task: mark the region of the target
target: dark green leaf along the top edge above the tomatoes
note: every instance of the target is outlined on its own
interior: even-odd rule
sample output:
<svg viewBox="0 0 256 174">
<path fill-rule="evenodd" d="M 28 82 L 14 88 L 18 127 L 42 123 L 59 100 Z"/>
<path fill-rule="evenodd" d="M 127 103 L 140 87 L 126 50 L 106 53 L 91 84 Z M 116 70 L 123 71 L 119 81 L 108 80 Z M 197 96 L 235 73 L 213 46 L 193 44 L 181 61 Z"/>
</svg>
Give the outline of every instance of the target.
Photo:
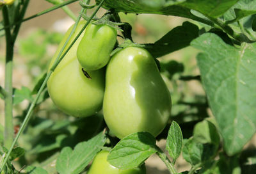
<svg viewBox="0 0 256 174">
<path fill-rule="evenodd" d="M 104 8 L 115 8 L 116 12 L 126 13 L 156 13 L 162 15 L 175 15 L 196 19 L 190 10 L 196 10 L 211 17 L 218 17 L 231 8 L 238 0 L 106 0 Z M 97 0 L 100 3 L 100 0 Z"/>
</svg>

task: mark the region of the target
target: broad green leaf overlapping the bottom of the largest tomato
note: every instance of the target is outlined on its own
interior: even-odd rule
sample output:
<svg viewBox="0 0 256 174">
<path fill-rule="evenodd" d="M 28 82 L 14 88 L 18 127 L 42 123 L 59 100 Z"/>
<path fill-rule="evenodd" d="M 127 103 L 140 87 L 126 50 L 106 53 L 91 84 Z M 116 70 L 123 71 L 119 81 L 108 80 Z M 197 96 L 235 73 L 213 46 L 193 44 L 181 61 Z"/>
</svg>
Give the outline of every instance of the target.
<svg viewBox="0 0 256 174">
<path fill-rule="evenodd" d="M 108 155 L 108 162 L 120 169 L 140 166 L 156 153 L 156 139 L 148 132 L 136 132 L 121 139 Z"/>
</svg>

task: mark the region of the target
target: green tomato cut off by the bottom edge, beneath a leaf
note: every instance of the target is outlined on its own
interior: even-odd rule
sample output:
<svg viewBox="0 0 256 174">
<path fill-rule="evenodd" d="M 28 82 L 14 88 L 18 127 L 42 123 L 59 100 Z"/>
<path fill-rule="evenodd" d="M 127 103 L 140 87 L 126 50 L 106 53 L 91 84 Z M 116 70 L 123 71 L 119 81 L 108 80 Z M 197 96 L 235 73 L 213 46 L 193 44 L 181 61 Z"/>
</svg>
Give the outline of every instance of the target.
<svg viewBox="0 0 256 174">
<path fill-rule="evenodd" d="M 146 174 L 145 164 L 140 166 L 140 168 L 133 168 L 129 170 L 122 170 L 115 168 L 109 162 L 108 151 L 102 150 L 99 154 L 96 155 L 92 162 L 92 166 L 87 174 Z"/>
</svg>

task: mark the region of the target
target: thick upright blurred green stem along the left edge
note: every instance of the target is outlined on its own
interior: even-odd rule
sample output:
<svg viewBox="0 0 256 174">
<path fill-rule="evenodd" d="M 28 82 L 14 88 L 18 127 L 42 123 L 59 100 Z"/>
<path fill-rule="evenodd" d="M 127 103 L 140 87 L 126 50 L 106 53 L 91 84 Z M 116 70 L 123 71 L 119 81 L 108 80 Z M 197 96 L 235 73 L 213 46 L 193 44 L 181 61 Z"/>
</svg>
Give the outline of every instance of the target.
<svg viewBox="0 0 256 174">
<path fill-rule="evenodd" d="M 3 18 L 4 26 L 10 24 L 8 9 L 6 6 L 3 7 Z M 4 146 L 10 148 L 13 141 L 13 115 L 12 115 L 12 67 L 13 67 L 13 40 L 10 28 L 5 29 L 5 40 L 6 40 L 6 59 L 5 59 L 5 79 L 4 89 L 6 91 L 4 98 Z"/>
</svg>

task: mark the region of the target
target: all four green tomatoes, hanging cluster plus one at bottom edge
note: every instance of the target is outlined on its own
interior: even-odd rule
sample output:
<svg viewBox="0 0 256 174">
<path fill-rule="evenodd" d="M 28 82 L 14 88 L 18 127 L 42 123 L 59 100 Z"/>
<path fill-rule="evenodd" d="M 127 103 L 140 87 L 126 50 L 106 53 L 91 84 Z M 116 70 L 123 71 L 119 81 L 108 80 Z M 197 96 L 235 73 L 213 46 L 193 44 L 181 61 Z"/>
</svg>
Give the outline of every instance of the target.
<svg viewBox="0 0 256 174">
<path fill-rule="evenodd" d="M 79 22 L 64 51 L 85 23 Z M 61 41 L 50 67 L 71 30 Z M 146 49 L 125 47 L 110 56 L 116 36 L 115 28 L 89 24 L 51 74 L 47 82 L 49 95 L 68 115 L 92 116 L 103 109 L 109 131 L 119 139 L 141 131 L 156 137 L 170 117 L 170 92 Z M 107 156 L 108 152 L 100 152 L 89 174 L 145 173 L 145 166 L 119 170 L 106 161 Z"/>
</svg>

